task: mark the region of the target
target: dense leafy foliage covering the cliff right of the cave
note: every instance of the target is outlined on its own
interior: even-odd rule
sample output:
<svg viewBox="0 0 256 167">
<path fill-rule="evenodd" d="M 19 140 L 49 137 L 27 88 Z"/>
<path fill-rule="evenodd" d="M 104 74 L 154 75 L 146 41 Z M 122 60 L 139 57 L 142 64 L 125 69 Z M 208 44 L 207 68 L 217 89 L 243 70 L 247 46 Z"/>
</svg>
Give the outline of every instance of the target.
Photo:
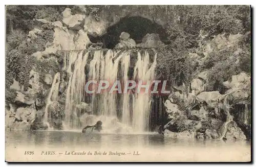
<svg viewBox="0 0 256 167">
<path fill-rule="evenodd" d="M 169 18 L 165 29 L 171 41 L 158 51 L 157 75 L 172 84 L 186 86 L 197 71 L 209 71 L 208 90 L 218 90 L 223 81 L 241 71 L 250 73 L 250 10 L 249 6 L 151 6 L 161 8 Z M 203 46 L 216 35 L 242 34 L 243 41 L 224 49 L 213 48 L 204 60 L 191 59 L 189 53 L 204 57 Z M 204 36 L 204 38 L 202 38 Z M 235 54 L 238 48 L 242 52 Z M 192 63 L 193 62 L 193 63 Z"/>
</svg>

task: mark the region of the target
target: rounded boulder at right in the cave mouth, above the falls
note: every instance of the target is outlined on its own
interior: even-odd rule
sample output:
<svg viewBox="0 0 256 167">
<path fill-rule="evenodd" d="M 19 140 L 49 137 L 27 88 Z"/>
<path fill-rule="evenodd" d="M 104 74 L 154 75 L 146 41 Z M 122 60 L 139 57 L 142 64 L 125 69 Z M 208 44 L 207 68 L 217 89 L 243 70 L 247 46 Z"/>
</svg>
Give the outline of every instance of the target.
<svg viewBox="0 0 256 167">
<path fill-rule="evenodd" d="M 142 42 L 137 44 L 138 47 L 160 47 L 164 45 L 161 41 L 159 34 L 146 34 Z"/>
</svg>

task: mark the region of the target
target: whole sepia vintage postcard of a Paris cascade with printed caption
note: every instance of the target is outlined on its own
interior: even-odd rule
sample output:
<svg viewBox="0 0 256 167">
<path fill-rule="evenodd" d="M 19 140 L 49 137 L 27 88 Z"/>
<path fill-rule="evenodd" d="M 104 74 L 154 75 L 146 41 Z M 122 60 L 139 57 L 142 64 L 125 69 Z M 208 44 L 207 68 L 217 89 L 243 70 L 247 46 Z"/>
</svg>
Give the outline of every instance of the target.
<svg viewBox="0 0 256 167">
<path fill-rule="evenodd" d="M 6 161 L 250 162 L 250 11 L 6 5 Z"/>
</svg>

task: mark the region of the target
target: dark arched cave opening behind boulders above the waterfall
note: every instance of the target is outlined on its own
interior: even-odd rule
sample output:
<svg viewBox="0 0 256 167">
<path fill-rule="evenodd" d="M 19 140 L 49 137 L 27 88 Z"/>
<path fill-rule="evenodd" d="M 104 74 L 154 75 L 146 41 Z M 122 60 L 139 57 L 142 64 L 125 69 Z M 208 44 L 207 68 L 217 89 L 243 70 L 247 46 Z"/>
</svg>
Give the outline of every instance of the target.
<svg viewBox="0 0 256 167">
<path fill-rule="evenodd" d="M 123 17 L 115 25 L 109 27 L 104 35 L 100 37 L 88 35 L 88 37 L 93 43 L 102 42 L 103 48 L 113 49 L 119 43 L 119 36 L 122 32 L 129 33 L 130 38 L 134 39 L 137 44 L 142 42 L 146 34 L 151 33 L 159 34 L 163 43 L 169 43 L 166 30 L 161 25 L 140 16 Z"/>
</svg>

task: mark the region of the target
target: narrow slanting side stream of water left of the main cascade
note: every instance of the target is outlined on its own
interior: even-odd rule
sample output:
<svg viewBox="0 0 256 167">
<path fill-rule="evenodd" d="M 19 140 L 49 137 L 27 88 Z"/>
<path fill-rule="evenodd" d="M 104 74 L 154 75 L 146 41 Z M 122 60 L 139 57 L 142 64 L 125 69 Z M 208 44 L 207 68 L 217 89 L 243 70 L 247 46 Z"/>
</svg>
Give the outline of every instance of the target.
<svg viewBox="0 0 256 167">
<path fill-rule="evenodd" d="M 57 102 L 58 101 L 59 84 L 60 84 L 60 73 L 56 73 L 54 78 L 53 78 L 52 87 L 50 89 L 50 92 L 48 94 L 47 101 L 46 101 L 44 123 L 48 124 L 48 115 L 49 115 L 48 114 L 48 106 L 52 102 Z"/>
</svg>

